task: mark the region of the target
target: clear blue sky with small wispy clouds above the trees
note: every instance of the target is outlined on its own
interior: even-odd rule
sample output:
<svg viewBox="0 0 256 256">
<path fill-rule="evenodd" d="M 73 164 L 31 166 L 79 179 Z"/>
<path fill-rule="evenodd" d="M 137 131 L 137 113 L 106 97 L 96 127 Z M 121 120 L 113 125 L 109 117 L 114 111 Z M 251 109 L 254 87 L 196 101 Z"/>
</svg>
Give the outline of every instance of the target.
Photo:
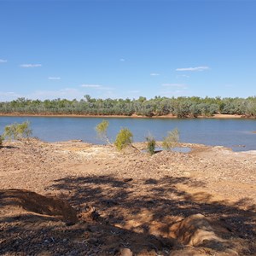
<svg viewBox="0 0 256 256">
<path fill-rule="evenodd" d="M 256 1 L 0 0 L 0 101 L 256 95 Z"/>
</svg>

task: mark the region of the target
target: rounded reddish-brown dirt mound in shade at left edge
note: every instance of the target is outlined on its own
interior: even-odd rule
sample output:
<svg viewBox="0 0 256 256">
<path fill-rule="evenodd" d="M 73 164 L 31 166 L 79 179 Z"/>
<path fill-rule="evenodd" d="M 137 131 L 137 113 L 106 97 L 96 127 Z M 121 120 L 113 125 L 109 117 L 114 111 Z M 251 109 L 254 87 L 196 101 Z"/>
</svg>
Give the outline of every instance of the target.
<svg viewBox="0 0 256 256">
<path fill-rule="evenodd" d="M 38 195 L 24 189 L 0 190 L 0 205 L 1 207 L 22 207 L 28 212 L 55 216 L 68 224 L 78 222 L 76 211 L 67 201 Z"/>
</svg>

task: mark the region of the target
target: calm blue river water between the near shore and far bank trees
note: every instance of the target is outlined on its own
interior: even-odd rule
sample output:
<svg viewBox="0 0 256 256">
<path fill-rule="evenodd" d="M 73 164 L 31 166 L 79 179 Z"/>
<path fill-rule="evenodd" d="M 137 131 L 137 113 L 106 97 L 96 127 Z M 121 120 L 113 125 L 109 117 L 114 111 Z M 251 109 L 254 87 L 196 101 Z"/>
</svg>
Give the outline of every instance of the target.
<svg viewBox="0 0 256 256">
<path fill-rule="evenodd" d="M 0 133 L 5 125 L 26 120 L 31 122 L 33 137 L 47 142 L 83 140 L 103 143 L 96 137 L 95 127 L 108 119 L 108 137 L 114 140 L 122 127 L 133 133 L 135 142 L 145 141 L 150 133 L 162 140 L 167 131 L 177 128 L 183 143 L 220 145 L 234 151 L 256 150 L 256 119 L 132 119 L 132 118 L 73 118 L 73 117 L 0 117 Z"/>
</svg>

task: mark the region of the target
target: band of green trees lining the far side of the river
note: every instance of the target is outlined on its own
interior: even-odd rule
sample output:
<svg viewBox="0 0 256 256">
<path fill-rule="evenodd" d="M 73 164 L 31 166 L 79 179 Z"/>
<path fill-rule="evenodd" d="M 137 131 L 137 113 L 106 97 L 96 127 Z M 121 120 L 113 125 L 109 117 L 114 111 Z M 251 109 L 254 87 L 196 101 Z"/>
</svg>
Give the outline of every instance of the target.
<svg viewBox="0 0 256 256">
<path fill-rule="evenodd" d="M 215 113 L 239 114 L 256 117 L 256 96 L 247 98 L 221 97 L 161 97 L 147 99 L 95 99 L 85 95 L 81 100 L 29 100 L 18 98 L 11 102 L 0 102 L 0 113 L 26 114 L 87 114 L 163 116 L 172 114 L 178 118 L 212 116 Z"/>
</svg>

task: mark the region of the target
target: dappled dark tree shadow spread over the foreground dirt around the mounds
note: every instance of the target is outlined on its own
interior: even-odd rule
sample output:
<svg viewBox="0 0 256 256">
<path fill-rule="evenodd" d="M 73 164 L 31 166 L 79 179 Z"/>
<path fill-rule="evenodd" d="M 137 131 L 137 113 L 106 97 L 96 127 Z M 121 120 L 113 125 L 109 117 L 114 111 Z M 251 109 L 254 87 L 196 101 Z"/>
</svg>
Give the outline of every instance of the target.
<svg viewBox="0 0 256 256">
<path fill-rule="evenodd" d="M 28 213 L 1 218 L 0 252 L 115 255 L 127 247 L 136 255 L 169 255 L 174 248 L 184 246 L 173 227 L 183 218 L 201 213 L 212 227 L 218 227 L 216 234 L 225 246 L 208 242 L 197 247 L 197 253 L 229 255 L 227 248 L 239 255 L 256 253 L 255 206 L 244 207 L 246 198 L 236 204 L 212 201 L 207 193 L 193 195 L 178 189 L 180 184 L 204 186 L 189 177 L 135 180 L 91 176 L 55 180 L 48 189 L 58 191 L 58 196 L 77 210 L 79 223 L 68 226 L 59 218 Z M 4 206 L 3 196 L 1 204 Z"/>
</svg>

